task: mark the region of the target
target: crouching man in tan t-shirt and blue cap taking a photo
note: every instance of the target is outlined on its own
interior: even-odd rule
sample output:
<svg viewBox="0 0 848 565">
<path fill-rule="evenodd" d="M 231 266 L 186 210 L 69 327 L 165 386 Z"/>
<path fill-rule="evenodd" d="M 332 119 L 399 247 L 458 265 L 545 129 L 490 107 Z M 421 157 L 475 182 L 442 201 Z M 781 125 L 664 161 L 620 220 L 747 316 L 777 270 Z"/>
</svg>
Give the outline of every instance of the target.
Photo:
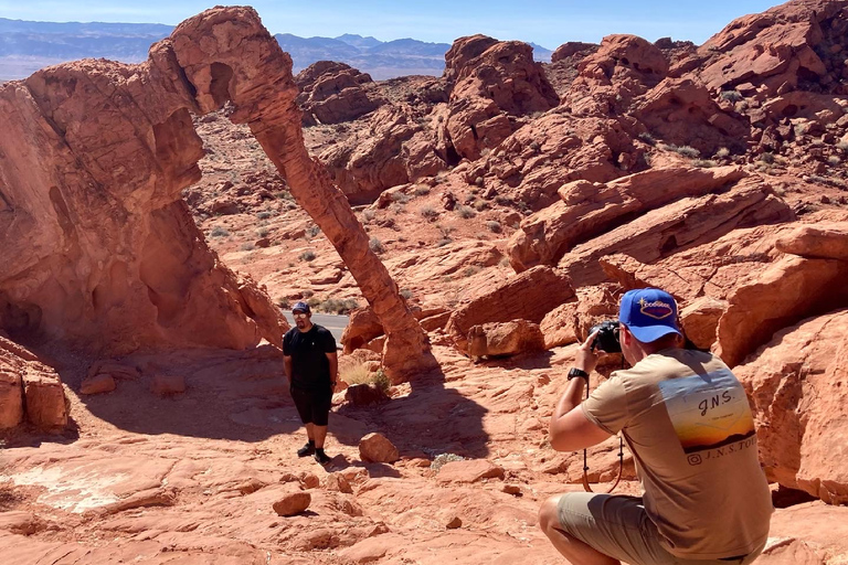
<svg viewBox="0 0 848 565">
<path fill-rule="evenodd" d="M 680 348 L 677 305 L 656 288 L 622 297 L 618 339 L 632 369 L 581 403 L 597 364 L 594 338 L 569 372 L 551 446 L 574 451 L 621 431 L 645 492 L 549 499 L 539 522 L 553 546 L 574 565 L 754 561 L 773 509 L 742 385 L 719 358 Z"/>
</svg>

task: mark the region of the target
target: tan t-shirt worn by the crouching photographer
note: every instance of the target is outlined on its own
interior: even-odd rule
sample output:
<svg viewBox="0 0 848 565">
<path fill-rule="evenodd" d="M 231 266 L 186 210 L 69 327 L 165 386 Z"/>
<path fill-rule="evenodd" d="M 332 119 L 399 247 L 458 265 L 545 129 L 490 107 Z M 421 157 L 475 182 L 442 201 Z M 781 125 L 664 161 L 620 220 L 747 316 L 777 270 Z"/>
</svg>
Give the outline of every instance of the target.
<svg viewBox="0 0 848 565">
<path fill-rule="evenodd" d="M 672 554 L 744 555 L 768 535 L 773 511 L 742 385 L 717 356 L 667 349 L 616 371 L 581 404 L 624 435 L 648 516 Z"/>
</svg>

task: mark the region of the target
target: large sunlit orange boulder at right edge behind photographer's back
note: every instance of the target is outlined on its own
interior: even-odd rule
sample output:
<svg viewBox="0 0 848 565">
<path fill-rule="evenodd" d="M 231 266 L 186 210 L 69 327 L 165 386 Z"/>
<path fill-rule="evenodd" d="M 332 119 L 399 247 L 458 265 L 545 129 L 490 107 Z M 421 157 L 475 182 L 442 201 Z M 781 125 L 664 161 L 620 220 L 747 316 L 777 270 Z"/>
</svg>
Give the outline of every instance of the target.
<svg viewBox="0 0 848 565">
<path fill-rule="evenodd" d="M 768 478 L 829 504 L 848 503 L 847 335 L 846 309 L 808 318 L 734 369 L 753 403 Z"/>
</svg>

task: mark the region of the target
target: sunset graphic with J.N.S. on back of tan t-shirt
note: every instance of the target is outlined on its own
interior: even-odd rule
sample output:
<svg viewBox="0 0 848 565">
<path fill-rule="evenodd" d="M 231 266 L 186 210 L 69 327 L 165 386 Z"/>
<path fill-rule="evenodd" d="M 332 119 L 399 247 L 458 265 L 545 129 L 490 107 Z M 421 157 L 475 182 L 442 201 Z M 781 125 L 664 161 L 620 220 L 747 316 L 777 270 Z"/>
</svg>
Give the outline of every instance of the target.
<svg viewBox="0 0 848 565">
<path fill-rule="evenodd" d="M 659 390 L 683 452 L 717 450 L 690 456 L 690 465 L 724 455 L 724 446 L 733 451 L 732 444 L 754 435 L 745 391 L 730 371 L 662 381 Z"/>
</svg>

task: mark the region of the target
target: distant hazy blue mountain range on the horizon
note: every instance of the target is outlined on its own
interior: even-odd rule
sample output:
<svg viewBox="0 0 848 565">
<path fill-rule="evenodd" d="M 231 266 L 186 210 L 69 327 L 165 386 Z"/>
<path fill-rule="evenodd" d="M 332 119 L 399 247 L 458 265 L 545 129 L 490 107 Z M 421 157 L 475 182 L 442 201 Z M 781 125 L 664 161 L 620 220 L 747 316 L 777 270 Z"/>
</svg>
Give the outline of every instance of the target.
<svg viewBox="0 0 848 565">
<path fill-rule="evenodd" d="M 173 26 L 158 23 L 52 23 L 0 18 L 0 81 L 24 78 L 39 68 L 77 58 L 105 57 L 125 63 L 147 58 L 150 45 Z M 346 33 L 338 38 L 274 35 L 292 55 L 294 72 L 316 61 L 347 63 L 377 81 L 403 75 L 441 76 L 448 43 L 413 39 L 380 41 Z M 551 51 L 531 43 L 537 61 Z"/>
</svg>

